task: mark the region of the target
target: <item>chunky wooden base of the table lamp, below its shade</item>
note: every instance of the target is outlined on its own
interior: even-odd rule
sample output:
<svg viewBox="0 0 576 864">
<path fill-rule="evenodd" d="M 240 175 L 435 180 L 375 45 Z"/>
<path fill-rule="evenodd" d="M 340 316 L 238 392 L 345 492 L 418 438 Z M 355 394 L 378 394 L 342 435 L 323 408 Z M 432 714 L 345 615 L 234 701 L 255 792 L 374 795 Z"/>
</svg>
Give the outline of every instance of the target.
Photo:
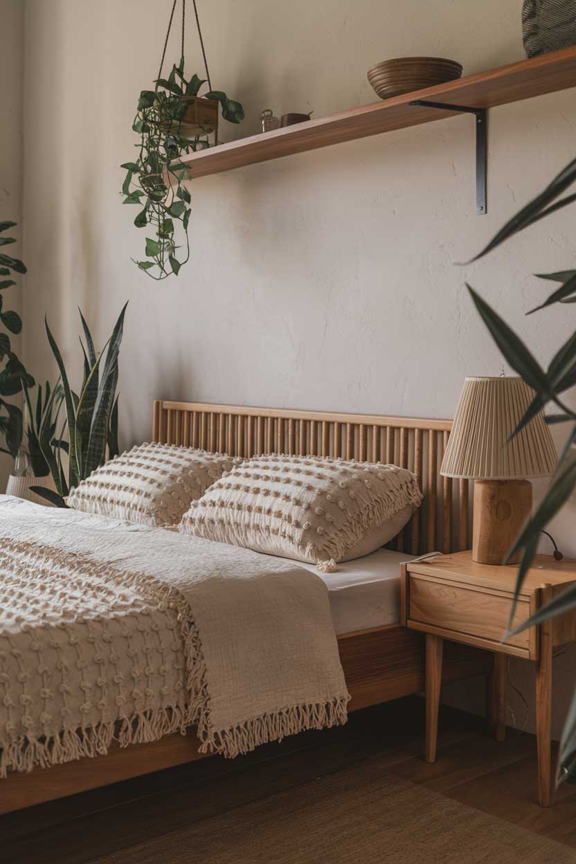
<svg viewBox="0 0 576 864">
<path fill-rule="evenodd" d="M 502 564 L 532 512 L 529 480 L 475 480 L 472 561 Z M 520 561 L 521 552 L 510 559 Z"/>
</svg>

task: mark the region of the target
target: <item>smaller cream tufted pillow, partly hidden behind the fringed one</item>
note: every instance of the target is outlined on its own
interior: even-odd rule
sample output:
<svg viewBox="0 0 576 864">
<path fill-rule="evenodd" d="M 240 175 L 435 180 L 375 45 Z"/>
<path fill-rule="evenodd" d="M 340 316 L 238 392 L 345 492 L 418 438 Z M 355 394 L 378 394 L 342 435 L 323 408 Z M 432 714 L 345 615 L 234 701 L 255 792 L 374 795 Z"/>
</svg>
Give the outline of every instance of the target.
<svg viewBox="0 0 576 864">
<path fill-rule="evenodd" d="M 214 480 L 241 460 L 169 444 L 140 444 L 70 490 L 73 510 L 155 527 L 177 525 Z"/>
</svg>

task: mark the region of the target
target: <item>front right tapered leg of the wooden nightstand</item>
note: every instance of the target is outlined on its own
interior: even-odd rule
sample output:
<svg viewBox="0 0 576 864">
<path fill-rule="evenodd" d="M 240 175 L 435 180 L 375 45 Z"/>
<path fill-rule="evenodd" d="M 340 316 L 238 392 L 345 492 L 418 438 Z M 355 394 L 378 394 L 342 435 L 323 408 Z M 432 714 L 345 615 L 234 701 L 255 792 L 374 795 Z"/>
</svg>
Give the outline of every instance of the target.
<svg viewBox="0 0 576 864">
<path fill-rule="evenodd" d="M 551 597 L 541 589 L 542 605 Z M 549 807 L 552 798 L 552 622 L 540 626 L 540 648 L 536 665 L 536 737 L 538 739 L 538 802 Z"/>
</svg>

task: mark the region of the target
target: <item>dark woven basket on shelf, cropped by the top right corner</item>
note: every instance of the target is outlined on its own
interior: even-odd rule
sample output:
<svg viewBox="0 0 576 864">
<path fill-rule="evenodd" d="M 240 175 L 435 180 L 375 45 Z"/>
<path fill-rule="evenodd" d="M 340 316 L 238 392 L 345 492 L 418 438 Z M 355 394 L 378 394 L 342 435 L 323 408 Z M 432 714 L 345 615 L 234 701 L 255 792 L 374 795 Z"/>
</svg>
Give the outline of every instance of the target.
<svg viewBox="0 0 576 864">
<path fill-rule="evenodd" d="M 576 45 L 574 0 L 524 0 L 522 35 L 527 57 Z"/>
</svg>

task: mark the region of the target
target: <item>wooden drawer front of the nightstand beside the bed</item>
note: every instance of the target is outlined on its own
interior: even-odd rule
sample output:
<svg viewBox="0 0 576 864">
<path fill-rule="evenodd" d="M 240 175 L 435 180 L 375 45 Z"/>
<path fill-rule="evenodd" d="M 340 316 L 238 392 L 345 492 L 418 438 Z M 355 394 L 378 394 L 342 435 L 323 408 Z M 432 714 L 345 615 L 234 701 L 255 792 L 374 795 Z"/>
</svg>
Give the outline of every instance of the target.
<svg viewBox="0 0 576 864">
<path fill-rule="evenodd" d="M 478 591 L 421 575 L 410 574 L 408 578 L 408 626 L 420 629 L 419 624 L 426 625 L 422 629 L 428 632 L 432 626 L 443 631 L 446 638 L 458 639 L 461 634 L 465 641 L 470 642 L 472 637 L 496 651 L 508 648 L 510 653 L 528 655 L 532 653 L 529 630 L 500 644 L 508 629 L 511 606 L 507 593 Z M 518 600 L 514 624 L 519 626 L 529 614 L 529 603 Z"/>
</svg>

